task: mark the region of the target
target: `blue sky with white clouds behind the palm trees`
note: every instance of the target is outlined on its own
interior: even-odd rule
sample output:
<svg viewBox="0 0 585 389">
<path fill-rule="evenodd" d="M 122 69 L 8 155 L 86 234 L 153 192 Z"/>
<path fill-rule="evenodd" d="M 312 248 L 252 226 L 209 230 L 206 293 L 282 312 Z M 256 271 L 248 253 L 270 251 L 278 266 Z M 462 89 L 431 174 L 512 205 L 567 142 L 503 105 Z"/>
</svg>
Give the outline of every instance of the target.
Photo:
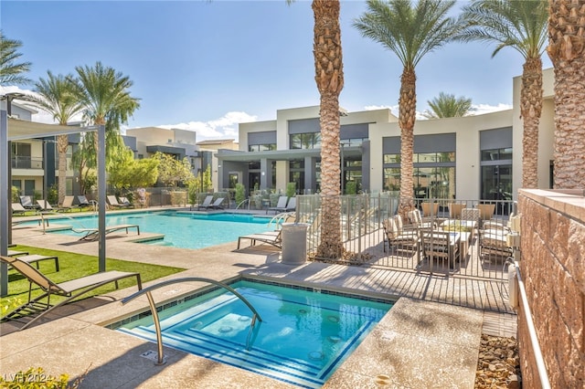
<svg viewBox="0 0 585 389">
<path fill-rule="evenodd" d="M 453 10 L 464 5 L 458 2 Z M 402 65 L 353 27 L 363 1 L 341 2 L 344 89 L 349 112 L 390 108 L 398 116 Z M 133 81 L 140 109 L 122 126 L 197 131 L 197 142 L 238 140 L 238 123 L 276 119 L 276 110 L 319 105 L 310 1 L 0 0 L 0 29 L 22 42 L 29 79 L 75 74 L 101 61 Z M 449 43 L 416 68 L 417 110 L 439 93 L 472 99 L 476 113 L 512 106 L 524 59 L 506 47 Z M 544 68 L 550 68 L 547 55 Z M 1 87 L 0 93 L 32 89 Z M 51 122 L 42 111 L 34 121 Z"/>
</svg>

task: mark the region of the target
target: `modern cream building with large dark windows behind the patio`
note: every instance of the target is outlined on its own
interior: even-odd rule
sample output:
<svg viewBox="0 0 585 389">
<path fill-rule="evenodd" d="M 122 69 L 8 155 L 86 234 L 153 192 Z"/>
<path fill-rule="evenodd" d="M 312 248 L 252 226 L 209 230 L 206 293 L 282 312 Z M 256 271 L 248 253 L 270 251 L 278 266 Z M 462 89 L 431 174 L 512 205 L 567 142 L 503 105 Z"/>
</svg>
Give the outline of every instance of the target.
<svg viewBox="0 0 585 389">
<path fill-rule="evenodd" d="M 553 69 L 544 71 L 538 186 L 552 187 Z M 513 79 L 513 109 L 461 118 L 419 120 L 414 127 L 414 184 L 420 198 L 516 199 L 522 184 L 521 78 Z M 400 129 L 389 110 L 340 112 L 342 187 L 399 190 Z M 319 191 L 319 107 L 277 110 L 276 120 L 239 124 L 239 151 L 218 150 L 220 187 L 297 193 Z"/>
</svg>

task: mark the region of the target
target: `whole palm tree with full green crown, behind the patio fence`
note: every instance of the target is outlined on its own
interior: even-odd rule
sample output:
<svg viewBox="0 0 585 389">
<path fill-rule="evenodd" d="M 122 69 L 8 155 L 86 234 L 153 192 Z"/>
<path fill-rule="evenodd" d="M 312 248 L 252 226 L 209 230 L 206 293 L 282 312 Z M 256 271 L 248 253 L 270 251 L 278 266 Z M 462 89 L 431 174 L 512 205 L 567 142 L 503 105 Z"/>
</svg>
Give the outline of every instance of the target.
<svg viewBox="0 0 585 389">
<path fill-rule="evenodd" d="M 382 44 L 402 63 L 399 92 L 400 127 L 400 202 L 399 213 L 406 216 L 412 208 L 414 122 L 416 120 L 415 68 L 425 54 L 443 46 L 460 31 L 460 20 L 447 16 L 454 0 L 368 0 L 368 11 L 354 26 L 362 36 Z"/>
</svg>

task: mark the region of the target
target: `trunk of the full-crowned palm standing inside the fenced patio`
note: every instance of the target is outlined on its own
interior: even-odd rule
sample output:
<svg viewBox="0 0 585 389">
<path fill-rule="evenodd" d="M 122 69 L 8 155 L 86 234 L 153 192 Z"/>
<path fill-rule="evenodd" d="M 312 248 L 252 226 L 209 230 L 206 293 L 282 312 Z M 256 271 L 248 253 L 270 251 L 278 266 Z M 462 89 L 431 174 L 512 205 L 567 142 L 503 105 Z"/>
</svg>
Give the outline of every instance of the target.
<svg viewBox="0 0 585 389">
<path fill-rule="evenodd" d="M 416 120 L 417 92 L 414 69 L 404 68 L 400 77 L 399 126 L 400 126 L 400 202 L 399 214 L 404 220 L 412 209 L 412 152 L 414 147 L 414 121 Z"/>
</svg>

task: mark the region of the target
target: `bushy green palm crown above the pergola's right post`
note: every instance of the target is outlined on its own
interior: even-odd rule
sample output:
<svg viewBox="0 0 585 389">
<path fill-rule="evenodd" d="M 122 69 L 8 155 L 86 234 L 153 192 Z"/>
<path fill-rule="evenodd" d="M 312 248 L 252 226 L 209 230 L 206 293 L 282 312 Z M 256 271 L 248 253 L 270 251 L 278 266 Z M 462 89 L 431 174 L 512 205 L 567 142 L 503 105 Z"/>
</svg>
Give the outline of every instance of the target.
<svg viewBox="0 0 585 389">
<path fill-rule="evenodd" d="M 106 142 L 115 146 L 120 142 L 120 126 L 126 123 L 134 110 L 140 108 L 139 99 L 130 95 L 133 81 L 113 68 L 104 67 L 96 62 L 94 67 L 76 67 L 77 78 L 69 77 L 73 93 L 83 106 L 83 118 L 91 124 L 105 125 Z M 98 133 L 85 138 L 93 143 L 96 156 L 98 152 Z M 106 155 L 109 148 L 106 147 Z M 95 156 L 94 156 L 95 157 Z M 89 162 L 95 165 L 95 159 Z"/>
</svg>

